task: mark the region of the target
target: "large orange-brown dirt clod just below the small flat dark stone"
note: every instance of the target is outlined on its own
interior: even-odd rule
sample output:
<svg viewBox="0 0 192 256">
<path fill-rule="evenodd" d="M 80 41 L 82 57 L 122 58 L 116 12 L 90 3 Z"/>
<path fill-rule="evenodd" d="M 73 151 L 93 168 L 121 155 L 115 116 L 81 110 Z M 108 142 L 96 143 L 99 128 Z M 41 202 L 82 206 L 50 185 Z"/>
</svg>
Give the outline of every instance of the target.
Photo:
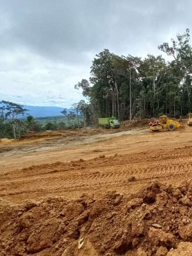
<svg viewBox="0 0 192 256">
<path fill-rule="evenodd" d="M 148 237 L 151 243 L 156 246 L 175 247 L 176 244 L 174 236 L 162 231 L 162 229 L 150 227 Z"/>
</svg>

